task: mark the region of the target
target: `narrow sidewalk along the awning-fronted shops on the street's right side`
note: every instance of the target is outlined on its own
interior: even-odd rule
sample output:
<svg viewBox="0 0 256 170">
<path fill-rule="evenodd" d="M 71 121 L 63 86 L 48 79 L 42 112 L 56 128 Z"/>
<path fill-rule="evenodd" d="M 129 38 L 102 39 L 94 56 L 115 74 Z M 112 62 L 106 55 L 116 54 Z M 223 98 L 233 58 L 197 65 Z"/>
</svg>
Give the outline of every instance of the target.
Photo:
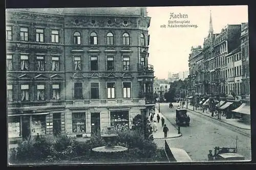
<svg viewBox="0 0 256 170">
<path fill-rule="evenodd" d="M 184 105 L 184 107 L 186 108 L 186 104 Z M 187 109 L 193 111 L 193 106 L 187 105 Z M 196 108 L 195 108 L 194 111 L 195 111 L 195 112 L 198 112 L 198 113 L 201 113 L 201 114 L 203 114 L 203 115 L 206 115 L 206 116 L 208 116 L 208 117 L 211 117 L 211 113 L 210 113 L 210 112 L 206 113 L 206 111 L 204 111 L 204 113 L 203 113 L 202 110 L 196 110 Z M 215 119 L 217 119 L 217 120 L 219 120 L 219 121 L 221 121 L 221 122 L 227 123 L 227 124 L 232 125 L 232 126 L 235 126 L 235 127 L 237 127 L 237 128 L 248 129 L 248 130 L 251 129 L 251 126 L 250 126 L 250 125 L 246 125 L 246 124 L 243 124 L 243 123 L 241 123 L 241 122 L 238 122 L 238 120 L 239 120 L 238 118 L 226 119 L 226 116 L 221 116 L 221 119 L 218 119 L 218 116 L 214 116 L 214 117 L 211 117 L 211 118 L 215 118 Z"/>
</svg>

